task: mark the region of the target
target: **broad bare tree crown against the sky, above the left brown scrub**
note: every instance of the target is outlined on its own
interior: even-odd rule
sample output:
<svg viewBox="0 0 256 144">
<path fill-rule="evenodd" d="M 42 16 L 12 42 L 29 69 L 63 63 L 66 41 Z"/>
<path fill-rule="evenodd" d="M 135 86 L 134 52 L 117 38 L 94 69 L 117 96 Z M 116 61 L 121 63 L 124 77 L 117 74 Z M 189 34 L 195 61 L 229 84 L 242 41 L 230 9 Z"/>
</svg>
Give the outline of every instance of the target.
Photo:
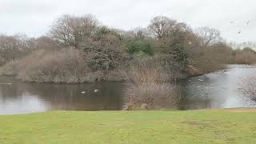
<svg viewBox="0 0 256 144">
<path fill-rule="evenodd" d="M 98 20 L 92 14 L 73 17 L 62 15 L 50 30 L 50 37 L 56 42 L 66 46 L 78 47 L 83 38 L 88 38 L 95 33 Z"/>
</svg>

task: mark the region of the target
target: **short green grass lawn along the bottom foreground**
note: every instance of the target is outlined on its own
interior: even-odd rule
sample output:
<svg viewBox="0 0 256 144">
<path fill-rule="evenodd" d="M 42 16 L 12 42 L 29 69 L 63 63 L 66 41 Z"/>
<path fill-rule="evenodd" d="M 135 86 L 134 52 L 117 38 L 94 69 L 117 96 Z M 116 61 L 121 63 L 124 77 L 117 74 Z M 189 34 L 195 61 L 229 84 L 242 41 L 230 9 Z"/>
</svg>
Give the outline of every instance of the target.
<svg viewBox="0 0 256 144">
<path fill-rule="evenodd" d="M 56 111 L 0 116 L 0 143 L 256 143 L 256 113 Z"/>
</svg>

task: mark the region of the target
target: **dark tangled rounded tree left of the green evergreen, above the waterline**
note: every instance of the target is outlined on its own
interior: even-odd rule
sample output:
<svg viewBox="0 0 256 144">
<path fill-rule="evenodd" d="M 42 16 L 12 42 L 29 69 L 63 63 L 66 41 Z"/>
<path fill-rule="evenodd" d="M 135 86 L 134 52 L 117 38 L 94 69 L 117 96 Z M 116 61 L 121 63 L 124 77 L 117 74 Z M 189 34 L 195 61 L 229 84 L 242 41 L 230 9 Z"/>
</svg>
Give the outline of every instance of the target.
<svg viewBox="0 0 256 144">
<path fill-rule="evenodd" d="M 127 54 L 120 35 L 106 26 L 98 29 L 94 38 L 82 42 L 91 70 L 114 70 L 126 62 Z"/>
</svg>

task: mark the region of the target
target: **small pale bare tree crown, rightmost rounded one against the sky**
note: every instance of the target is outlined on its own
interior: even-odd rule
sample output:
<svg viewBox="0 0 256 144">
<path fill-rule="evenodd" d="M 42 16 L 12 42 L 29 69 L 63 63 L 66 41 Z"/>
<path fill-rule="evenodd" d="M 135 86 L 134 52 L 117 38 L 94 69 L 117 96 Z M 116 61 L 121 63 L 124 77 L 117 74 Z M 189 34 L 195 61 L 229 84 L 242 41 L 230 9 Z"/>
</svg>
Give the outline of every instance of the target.
<svg viewBox="0 0 256 144">
<path fill-rule="evenodd" d="M 218 30 L 207 26 L 196 29 L 195 34 L 198 34 L 198 41 L 200 42 L 201 48 L 206 48 L 222 40 Z"/>
</svg>

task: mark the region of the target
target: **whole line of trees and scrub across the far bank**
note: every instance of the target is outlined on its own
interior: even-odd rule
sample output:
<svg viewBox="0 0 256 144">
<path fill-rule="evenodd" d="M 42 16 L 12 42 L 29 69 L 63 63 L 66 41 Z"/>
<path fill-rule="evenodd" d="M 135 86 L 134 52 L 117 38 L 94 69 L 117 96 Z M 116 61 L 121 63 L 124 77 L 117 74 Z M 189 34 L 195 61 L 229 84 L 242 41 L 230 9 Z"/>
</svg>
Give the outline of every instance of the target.
<svg viewBox="0 0 256 144">
<path fill-rule="evenodd" d="M 255 54 L 251 47 L 232 49 L 218 30 L 193 30 L 162 16 L 125 31 L 102 26 L 92 14 L 63 15 L 41 38 L 0 36 L 1 73 L 26 82 L 126 81 L 130 67 L 142 61 L 154 63 L 169 81 L 229 63 L 252 64 Z"/>
</svg>

